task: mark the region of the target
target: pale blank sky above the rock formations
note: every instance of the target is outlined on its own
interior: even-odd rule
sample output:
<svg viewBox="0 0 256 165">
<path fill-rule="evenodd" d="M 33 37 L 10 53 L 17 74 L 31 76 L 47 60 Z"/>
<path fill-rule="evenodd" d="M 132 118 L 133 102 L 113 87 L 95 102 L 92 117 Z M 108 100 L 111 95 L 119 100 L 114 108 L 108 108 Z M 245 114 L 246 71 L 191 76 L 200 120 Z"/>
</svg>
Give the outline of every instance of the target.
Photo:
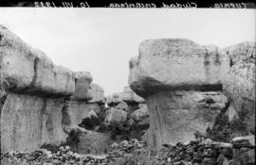
<svg viewBox="0 0 256 165">
<path fill-rule="evenodd" d="M 255 41 L 255 9 L 0 8 L 6 25 L 54 63 L 90 72 L 105 95 L 128 85 L 140 41 L 186 38 L 229 46 Z"/>
</svg>

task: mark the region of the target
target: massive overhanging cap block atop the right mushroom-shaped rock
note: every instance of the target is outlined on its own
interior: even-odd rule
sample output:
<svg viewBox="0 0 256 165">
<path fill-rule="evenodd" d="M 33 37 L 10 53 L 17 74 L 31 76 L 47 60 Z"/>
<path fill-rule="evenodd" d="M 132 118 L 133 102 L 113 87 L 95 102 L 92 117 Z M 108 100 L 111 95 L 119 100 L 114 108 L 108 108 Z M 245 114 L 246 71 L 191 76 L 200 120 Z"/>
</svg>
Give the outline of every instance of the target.
<svg viewBox="0 0 256 165">
<path fill-rule="evenodd" d="M 185 39 L 146 40 L 138 51 L 130 60 L 129 85 L 140 96 L 160 90 L 221 90 L 229 72 L 229 58 L 216 46 Z"/>
</svg>

